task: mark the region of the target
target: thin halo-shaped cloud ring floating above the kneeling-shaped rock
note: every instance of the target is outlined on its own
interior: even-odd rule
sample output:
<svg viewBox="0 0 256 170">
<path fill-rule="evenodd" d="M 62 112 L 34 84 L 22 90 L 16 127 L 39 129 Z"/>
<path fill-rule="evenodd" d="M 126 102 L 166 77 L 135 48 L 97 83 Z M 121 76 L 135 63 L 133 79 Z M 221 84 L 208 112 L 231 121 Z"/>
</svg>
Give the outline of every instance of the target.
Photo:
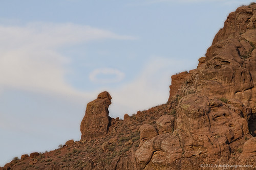
<svg viewBox="0 0 256 170">
<path fill-rule="evenodd" d="M 100 75 L 105 77 L 98 78 L 98 76 Z M 112 76 L 112 77 L 109 78 L 109 76 Z M 114 68 L 99 68 L 99 69 L 93 70 L 90 73 L 89 78 L 92 82 L 95 82 L 95 83 L 116 83 L 121 81 L 124 78 L 124 73 Z"/>
</svg>

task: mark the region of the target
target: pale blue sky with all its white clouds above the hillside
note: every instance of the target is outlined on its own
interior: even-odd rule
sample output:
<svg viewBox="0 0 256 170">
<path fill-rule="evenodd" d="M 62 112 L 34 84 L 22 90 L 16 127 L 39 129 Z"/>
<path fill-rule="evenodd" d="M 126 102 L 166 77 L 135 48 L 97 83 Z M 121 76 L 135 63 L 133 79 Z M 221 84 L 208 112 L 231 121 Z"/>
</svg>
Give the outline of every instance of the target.
<svg viewBox="0 0 256 170">
<path fill-rule="evenodd" d="M 111 117 L 167 102 L 246 0 L 0 0 L 0 166 L 80 140 L 88 102 Z"/>
</svg>

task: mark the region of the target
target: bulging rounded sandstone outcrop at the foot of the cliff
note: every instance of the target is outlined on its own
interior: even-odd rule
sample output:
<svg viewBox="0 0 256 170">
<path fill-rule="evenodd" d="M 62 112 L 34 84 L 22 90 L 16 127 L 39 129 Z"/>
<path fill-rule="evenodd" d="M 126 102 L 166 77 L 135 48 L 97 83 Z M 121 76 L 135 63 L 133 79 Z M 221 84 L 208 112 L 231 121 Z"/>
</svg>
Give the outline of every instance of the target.
<svg viewBox="0 0 256 170">
<path fill-rule="evenodd" d="M 228 162 L 230 148 L 236 149 L 232 144 L 249 135 L 245 118 L 227 104 L 209 100 L 202 94 L 181 98 L 176 115 L 177 127 L 173 133 L 146 140 L 136 151 L 141 169 L 151 169 L 156 162 L 165 161 L 164 167 L 176 169 L 176 160 L 183 162 L 180 168 L 207 160 Z"/>
</svg>

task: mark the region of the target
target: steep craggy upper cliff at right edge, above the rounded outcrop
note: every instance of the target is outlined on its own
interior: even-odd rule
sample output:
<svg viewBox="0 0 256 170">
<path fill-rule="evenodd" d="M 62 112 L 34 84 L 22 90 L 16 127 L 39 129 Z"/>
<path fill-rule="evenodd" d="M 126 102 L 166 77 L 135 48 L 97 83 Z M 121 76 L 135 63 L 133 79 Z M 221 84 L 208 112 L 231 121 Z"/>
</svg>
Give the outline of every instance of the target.
<svg viewBox="0 0 256 170">
<path fill-rule="evenodd" d="M 196 82 L 200 92 L 209 90 L 209 95 L 242 99 L 244 106 L 252 108 L 252 113 L 256 113 L 254 8 L 255 5 L 244 6 L 229 14 L 207 50 Z"/>
</svg>

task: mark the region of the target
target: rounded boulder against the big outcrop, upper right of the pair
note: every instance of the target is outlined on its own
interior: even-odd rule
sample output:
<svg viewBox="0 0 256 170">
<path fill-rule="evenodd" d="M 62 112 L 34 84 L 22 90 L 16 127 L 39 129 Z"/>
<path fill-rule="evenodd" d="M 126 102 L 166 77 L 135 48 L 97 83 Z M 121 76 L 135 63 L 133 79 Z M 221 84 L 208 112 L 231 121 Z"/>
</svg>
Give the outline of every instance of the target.
<svg viewBox="0 0 256 170">
<path fill-rule="evenodd" d="M 175 117 L 173 115 L 163 115 L 159 119 L 157 119 L 157 129 L 158 133 L 169 133 L 174 131 L 174 120 Z"/>
</svg>

